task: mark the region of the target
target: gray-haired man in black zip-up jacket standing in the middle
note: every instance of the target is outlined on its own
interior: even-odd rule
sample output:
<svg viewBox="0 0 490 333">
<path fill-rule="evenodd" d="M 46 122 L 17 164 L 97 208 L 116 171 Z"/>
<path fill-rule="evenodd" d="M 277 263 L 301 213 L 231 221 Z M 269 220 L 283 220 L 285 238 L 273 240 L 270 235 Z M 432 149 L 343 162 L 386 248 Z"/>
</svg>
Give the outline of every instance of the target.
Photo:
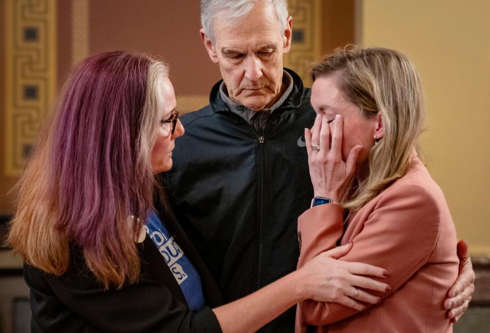
<svg viewBox="0 0 490 333">
<path fill-rule="evenodd" d="M 208 106 L 181 117 L 186 134 L 166 176 L 183 228 L 233 301 L 296 269 L 297 218 L 313 197 L 301 138 L 315 112 L 310 90 L 283 68 L 292 29 L 285 0 L 203 0 L 201 17 L 223 80 Z M 474 288 L 465 257 L 446 302 L 453 317 Z M 290 309 L 262 331 L 292 332 L 294 323 Z"/>
</svg>

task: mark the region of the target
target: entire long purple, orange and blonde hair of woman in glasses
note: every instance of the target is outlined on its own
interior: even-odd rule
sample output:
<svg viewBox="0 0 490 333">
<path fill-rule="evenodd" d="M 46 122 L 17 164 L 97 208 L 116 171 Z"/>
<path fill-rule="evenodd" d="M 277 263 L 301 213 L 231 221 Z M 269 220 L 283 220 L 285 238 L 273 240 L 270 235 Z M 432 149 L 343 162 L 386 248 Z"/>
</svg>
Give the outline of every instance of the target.
<svg viewBox="0 0 490 333">
<path fill-rule="evenodd" d="M 15 188 L 8 244 L 27 264 L 59 276 L 76 247 L 106 289 L 138 279 L 136 238 L 156 190 L 156 96 L 167 76 L 162 62 L 119 51 L 75 68 Z"/>
</svg>

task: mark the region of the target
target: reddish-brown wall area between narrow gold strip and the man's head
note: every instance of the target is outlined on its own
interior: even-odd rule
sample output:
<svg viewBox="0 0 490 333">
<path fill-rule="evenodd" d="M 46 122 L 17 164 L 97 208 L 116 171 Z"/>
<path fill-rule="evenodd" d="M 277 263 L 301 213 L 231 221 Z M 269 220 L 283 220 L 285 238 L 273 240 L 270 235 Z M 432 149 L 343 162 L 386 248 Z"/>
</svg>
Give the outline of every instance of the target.
<svg viewBox="0 0 490 333">
<path fill-rule="evenodd" d="M 197 0 L 90 0 L 90 47 L 161 56 L 170 65 L 177 95 L 204 95 L 220 78 L 199 35 Z M 108 19 L 110 17 L 110 19 Z"/>
</svg>

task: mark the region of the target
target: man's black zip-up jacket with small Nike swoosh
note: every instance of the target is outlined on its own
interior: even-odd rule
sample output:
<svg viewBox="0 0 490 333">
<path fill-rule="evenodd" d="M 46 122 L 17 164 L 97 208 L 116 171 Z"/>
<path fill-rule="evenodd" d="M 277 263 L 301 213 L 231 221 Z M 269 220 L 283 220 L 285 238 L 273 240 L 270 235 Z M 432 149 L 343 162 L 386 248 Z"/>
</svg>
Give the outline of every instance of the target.
<svg viewBox="0 0 490 333">
<path fill-rule="evenodd" d="M 297 218 L 313 195 L 304 129 L 313 124 L 310 89 L 299 76 L 271 114 L 254 129 L 211 90 L 210 105 L 182 116 L 174 166 L 166 173 L 185 232 L 227 302 L 296 269 Z M 293 332 L 295 309 L 261 331 Z"/>
</svg>

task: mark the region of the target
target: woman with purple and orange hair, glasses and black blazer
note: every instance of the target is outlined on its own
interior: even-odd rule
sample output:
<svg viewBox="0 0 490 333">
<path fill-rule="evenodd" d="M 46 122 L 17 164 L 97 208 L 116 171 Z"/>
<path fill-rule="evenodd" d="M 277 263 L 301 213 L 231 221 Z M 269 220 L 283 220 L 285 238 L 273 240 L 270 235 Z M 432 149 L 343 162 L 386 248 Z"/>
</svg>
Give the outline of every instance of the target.
<svg viewBox="0 0 490 333">
<path fill-rule="evenodd" d="M 334 260 L 348 245 L 222 305 L 155 178 L 184 134 L 178 114 L 168 68 L 150 57 L 104 53 L 72 72 L 17 185 L 8 239 L 25 262 L 32 331 L 255 331 L 299 301 L 334 301 L 351 288 L 329 280 L 339 270 L 386 290 L 354 275 L 383 269 Z"/>
</svg>

